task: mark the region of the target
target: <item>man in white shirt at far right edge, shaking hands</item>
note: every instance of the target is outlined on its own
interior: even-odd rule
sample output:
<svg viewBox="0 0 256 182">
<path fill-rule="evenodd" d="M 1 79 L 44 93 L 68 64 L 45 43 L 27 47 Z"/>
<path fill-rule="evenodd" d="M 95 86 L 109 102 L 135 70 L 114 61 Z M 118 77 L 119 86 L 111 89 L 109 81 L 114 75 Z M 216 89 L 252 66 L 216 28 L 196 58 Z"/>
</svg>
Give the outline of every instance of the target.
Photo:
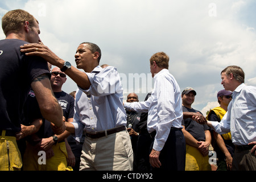
<svg viewBox="0 0 256 182">
<path fill-rule="evenodd" d="M 219 133 L 231 132 L 235 145 L 232 170 L 256 170 L 256 87 L 244 84 L 245 73 L 238 66 L 221 72 L 221 84 L 233 92 L 228 111 L 221 122 L 207 121 Z"/>
</svg>

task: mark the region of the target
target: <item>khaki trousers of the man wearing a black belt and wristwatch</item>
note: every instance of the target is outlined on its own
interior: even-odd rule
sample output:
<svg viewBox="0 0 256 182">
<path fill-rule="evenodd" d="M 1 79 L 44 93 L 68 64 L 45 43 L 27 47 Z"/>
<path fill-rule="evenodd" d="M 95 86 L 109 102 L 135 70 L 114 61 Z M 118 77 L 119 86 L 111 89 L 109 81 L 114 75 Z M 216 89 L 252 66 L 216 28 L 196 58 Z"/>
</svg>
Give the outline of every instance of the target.
<svg viewBox="0 0 256 182">
<path fill-rule="evenodd" d="M 92 139 L 85 137 L 80 171 L 131 171 L 133 149 L 127 130 Z"/>
</svg>

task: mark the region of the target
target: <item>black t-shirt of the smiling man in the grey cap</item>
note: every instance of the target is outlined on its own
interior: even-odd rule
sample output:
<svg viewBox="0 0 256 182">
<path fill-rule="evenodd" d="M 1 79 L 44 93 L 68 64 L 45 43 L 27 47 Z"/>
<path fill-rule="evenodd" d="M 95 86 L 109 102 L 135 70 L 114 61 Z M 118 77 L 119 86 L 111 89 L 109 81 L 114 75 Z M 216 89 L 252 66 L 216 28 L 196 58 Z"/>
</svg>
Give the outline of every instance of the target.
<svg viewBox="0 0 256 182">
<path fill-rule="evenodd" d="M 189 109 L 188 107 L 183 106 L 183 112 L 193 112 L 193 113 L 201 113 L 198 110 L 195 109 Z M 201 113 L 202 114 L 202 113 Z M 198 141 L 205 141 L 205 130 L 209 130 L 210 127 L 208 125 L 201 125 L 197 123 L 196 121 L 193 121 L 191 118 L 183 119 L 181 122 L 182 125 L 185 126 L 185 130 L 188 131 L 196 140 Z"/>
</svg>

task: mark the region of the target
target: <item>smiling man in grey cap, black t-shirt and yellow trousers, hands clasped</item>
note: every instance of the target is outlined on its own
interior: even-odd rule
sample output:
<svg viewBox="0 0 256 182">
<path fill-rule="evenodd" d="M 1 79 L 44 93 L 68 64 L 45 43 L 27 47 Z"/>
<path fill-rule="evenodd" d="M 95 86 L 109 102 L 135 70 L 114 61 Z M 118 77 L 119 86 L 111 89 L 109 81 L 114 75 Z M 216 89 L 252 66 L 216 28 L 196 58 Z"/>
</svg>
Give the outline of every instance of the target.
<svg viewBox="0 0 256 182">
<path fill-rule="evenodd" d="M 183 113 L 201 113 L 191 107 L 195 101 L 196 91 L 187 87 L 181 93 Z M 202 113 L 201 113 L 202 114 Z M 203 115 L 203 114 L 202 114 Z M 191 118 L 184 118 L 183 134 L 186 141 L 186 171 L 210 171 L 209 146 L 211 141 L 210 128 L 207 125 L 200 125 Z"/>
</svg>

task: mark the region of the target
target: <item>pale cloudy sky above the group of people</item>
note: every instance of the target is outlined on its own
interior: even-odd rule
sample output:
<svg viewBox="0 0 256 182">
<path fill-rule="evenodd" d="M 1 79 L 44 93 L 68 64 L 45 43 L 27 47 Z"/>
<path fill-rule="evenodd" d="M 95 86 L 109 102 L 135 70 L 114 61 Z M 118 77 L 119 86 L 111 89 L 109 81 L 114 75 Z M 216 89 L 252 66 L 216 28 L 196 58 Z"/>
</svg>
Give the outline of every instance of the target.
<svg viewBox="0 0 256 182">
<path fill-rule="evenodd" d="M 218 106 L 220 73 L 228 65 L 240 66 L 245 83 L 256 86 L 254 0 L 1 0 L 1 18 L 14 9 L 34 15 L 43 43 L 74 66 L 79 44 L 96 43 L 100 65 L 121 74 L 124 100 L 135 92 L 143 101 L 151 91 L 149 59 L 160 51 L 170 56 L 169 71 L 181 91 L 196 90 L 192 107 L 203 114 Z M 68 78 L 63 90 L 76 89 Z"/>
</svg>

